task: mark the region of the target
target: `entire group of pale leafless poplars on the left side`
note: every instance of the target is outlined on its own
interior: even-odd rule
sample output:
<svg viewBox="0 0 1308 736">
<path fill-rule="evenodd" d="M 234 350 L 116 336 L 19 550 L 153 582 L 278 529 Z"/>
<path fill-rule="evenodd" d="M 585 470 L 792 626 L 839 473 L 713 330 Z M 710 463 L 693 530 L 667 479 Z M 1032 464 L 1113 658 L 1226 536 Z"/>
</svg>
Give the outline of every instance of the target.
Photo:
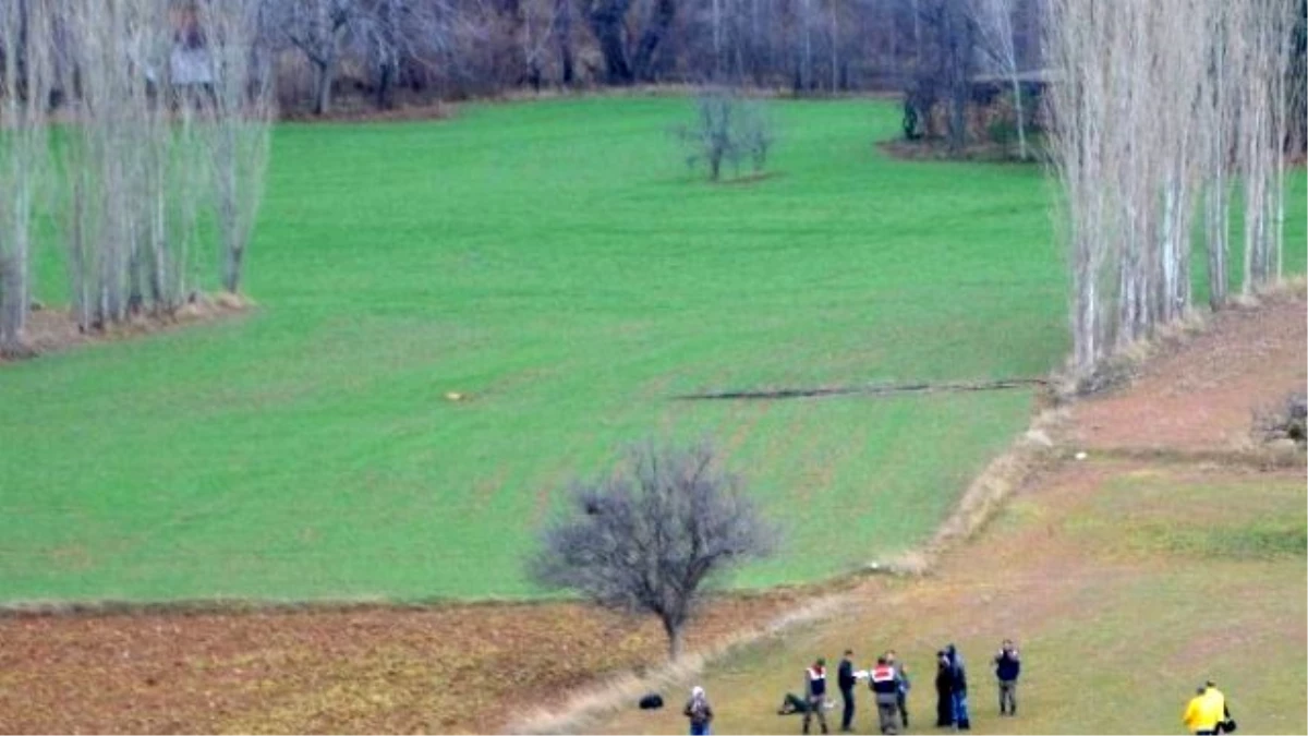
<svg viewBox="0 0 1308 736">
<path fill-rule="evenodd" d="M 82 330 L 174 312 L 211 268 L 238 292 L 273 113 L 255 21 L 255 0 L 0 4 L 0 351 L 25 350 L 37 244 Z"/>
</svg>

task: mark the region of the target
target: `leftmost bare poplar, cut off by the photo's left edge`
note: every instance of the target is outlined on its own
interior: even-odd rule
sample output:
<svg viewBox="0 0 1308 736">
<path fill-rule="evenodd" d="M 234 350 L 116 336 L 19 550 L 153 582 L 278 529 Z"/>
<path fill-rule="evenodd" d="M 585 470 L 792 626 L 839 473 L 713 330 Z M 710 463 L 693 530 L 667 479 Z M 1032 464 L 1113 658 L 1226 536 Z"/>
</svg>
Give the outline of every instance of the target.
<svg viewBox="0 0 1308 736">
<path fill-rule="evenodd" d="M 51 21 L 39 0 L 0 5 L 0 355 L 26 350 L 34 217 L 50 169 Z"/>
</svg>

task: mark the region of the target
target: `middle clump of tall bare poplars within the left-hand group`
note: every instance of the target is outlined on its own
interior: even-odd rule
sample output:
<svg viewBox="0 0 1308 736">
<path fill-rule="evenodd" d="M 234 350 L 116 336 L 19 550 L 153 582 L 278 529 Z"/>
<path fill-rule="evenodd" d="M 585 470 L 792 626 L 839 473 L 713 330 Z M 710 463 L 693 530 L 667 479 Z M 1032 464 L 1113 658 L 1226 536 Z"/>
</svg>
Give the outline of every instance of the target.
<svg viewBox="0 0 1308 736">
<path fill-rule="evenodd" d="M 177 141 L 167 90 L 173 30 L 166 0 L 65 0 L 77 71 L 78 140 L 63 147 L 73 177 L 67 211 L 75 304 L 82 327 L 175 305 L 167 274 Z"/>
</svg>

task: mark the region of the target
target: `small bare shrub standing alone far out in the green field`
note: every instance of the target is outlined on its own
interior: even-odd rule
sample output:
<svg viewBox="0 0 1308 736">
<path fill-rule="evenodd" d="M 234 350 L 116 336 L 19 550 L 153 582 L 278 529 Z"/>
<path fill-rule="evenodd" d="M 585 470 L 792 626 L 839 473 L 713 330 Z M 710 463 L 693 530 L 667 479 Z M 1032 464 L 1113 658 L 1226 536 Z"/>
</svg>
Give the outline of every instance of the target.
<svg viewBox="0 0 1308 736">
<path fill-rule="evenodd" d="M 748 162 L 753 173 L 761 173 L 776 140 L 763 101 L 744 100 L 725 89 L 700 93 L 695 122 L 675 132 L 687 148 L 687 165 L 705 166 L 709 181 L 722 178 L 723 164 L 739 174 Z"/>
</svg>

